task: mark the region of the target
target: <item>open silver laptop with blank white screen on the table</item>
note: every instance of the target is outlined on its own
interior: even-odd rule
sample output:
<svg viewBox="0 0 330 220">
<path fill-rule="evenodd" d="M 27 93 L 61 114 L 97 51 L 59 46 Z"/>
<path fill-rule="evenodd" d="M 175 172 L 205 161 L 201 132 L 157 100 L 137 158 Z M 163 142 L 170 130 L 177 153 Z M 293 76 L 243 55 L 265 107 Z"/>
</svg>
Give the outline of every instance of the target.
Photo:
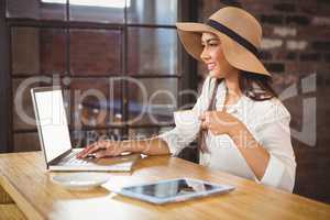
<svg viewBox="0 0 330 220">
<path fill-rule="evenodd" d="M 31 89 L 38 139 L 50 170 L 130 172 L 140 154 L 85 160 L 73 148 L 61 87 Z"/>
</svg>

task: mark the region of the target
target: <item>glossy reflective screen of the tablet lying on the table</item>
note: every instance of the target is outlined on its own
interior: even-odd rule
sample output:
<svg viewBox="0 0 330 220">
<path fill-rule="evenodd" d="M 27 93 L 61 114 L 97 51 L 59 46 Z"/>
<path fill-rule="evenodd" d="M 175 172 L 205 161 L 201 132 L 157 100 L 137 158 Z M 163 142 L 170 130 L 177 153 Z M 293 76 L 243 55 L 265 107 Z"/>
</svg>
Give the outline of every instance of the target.
<svg viewBox="0 0 330 220">
<path fill-rule="evenodd" d="M 174 179 L 151 185 L 125 187 L 124 190 L 165 199 L 196 193 L 207 193 L 221 188 L 219 185 L 210 185 L 194 179 Z"/>
</svg>

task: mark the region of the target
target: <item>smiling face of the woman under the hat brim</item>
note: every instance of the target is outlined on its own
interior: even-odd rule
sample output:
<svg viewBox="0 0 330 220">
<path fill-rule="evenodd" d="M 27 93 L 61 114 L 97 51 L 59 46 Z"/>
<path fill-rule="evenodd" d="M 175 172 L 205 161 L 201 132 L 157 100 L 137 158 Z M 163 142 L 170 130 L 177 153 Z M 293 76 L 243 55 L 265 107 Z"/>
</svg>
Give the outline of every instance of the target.
<svg viewBox="0 0 330 220">
<path fill-rule="evenodd" d="M 209 74 L 216 78 L 226 78 L 234 68 L 227 62 L 220 38 L 212 33 L 202 33 L 204 47 L 200 57 L 207 65 Z"/>
</svg>

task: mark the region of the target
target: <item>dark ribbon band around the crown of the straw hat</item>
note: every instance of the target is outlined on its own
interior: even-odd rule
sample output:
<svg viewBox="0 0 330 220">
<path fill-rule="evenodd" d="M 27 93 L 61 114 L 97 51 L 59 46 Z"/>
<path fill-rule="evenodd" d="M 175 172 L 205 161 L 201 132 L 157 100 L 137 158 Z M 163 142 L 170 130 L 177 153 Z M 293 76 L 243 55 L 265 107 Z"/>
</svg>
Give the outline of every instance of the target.
<svg viewBox="0 0 330 220">
<path fill-rule="evenodd" d="M 228 35 L 229 37 L 231 37 L 233 41 L 235 41 L 237 43 L 239 43 L 241 46 L 243 46 L 244 48 L 246 48 L 248 51 L 250 51 L 252 54 L 254 54 L 256 57 L 258 57 L 258 52 L 257 48 L 250 43 L 249 41 L 246 41 L 244 37 L 240 36 L 239 34 L 237 34 L 234 31 L 228 29 L 227 26 L 224 26 L 223 24 L 209 19 L 207 24 L 218 31 L 220 31 L 221 33 Z"/>
</svg>

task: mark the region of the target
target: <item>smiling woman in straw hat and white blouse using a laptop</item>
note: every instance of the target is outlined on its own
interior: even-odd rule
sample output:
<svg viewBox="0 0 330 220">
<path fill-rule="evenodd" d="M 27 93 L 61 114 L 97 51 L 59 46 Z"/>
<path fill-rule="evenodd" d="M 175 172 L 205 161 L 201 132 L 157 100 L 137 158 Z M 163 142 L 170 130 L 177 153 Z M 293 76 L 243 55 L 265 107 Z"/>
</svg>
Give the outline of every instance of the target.
<svg viewBox="0 0 330 220">
<path fill-rule="evenodd" d="M 97 157 L 139 152 L 177 155 L 200 134 L 200 164 L 293 191 L 296 162 L 290 114 L 270 86 L 258 59 L 262 29 L 242 9 L 227 7 L 206 24 L 177 23 L 187 52 L 209 70 L 193 113 L 200 127 L 185 135 L 175 128 L 143 141 L 100 141 L 81 152 Z M 200 132 L 201 131 L 201 132 Z"/>
</svg>

